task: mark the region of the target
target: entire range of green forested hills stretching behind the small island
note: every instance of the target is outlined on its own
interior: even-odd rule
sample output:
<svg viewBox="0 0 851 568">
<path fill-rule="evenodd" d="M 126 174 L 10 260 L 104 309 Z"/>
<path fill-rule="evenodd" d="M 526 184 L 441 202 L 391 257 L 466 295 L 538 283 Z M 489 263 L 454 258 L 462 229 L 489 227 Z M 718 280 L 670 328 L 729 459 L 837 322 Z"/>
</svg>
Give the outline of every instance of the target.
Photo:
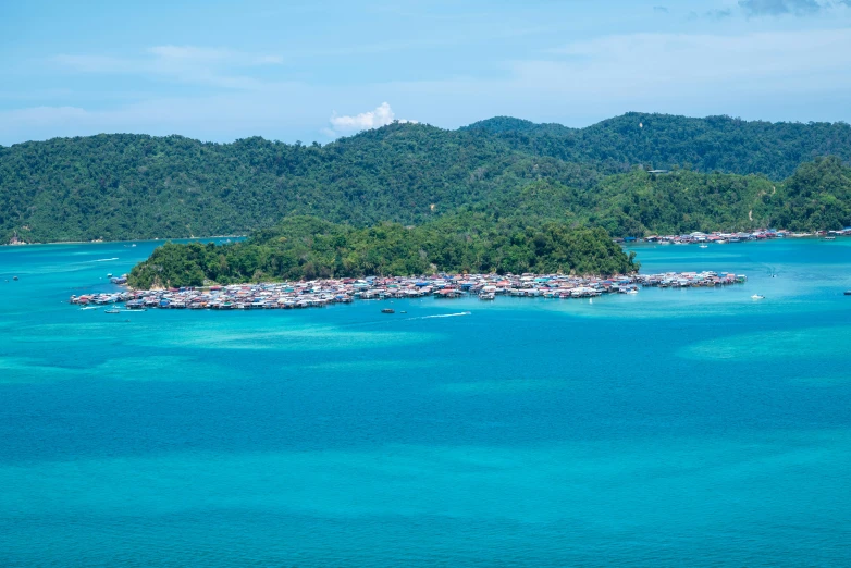
<svg viewBox="0 0 851 568">
<path fill-rule="evenodd" d="M 830 174 L 827 193 L 797 190 L 800 207 L 792 208 L 780 182 L 828 153 L 839 157 L 826 163 L 840 174 Z M 248 233 L 292 214 L 356 226 L 420 224 L 459 209 L 496 217 L 523 211 L 601 224 L 614 234 L 775 219 L 849 223 L 848 201 L 831 193 L 847 194 L 841 162 L 849 159 L 847 124 L 644 114 L 583 129 L 517 119 L 458 131 L 392 124 L 325 146 L 127 134 L 57 138 L 0 147 L 0 242 L 15 233 L 26 242 Z M 664 180 L 638 164 L 684 171 Z M 829 173 L 814 164 L 815 175 Z M 654 217 L 664 203 L 653 199 L 668 198 L 677 205 Z M 752 220 L 747 213 L 754 208 L 761 217 Z"/>
</svg>

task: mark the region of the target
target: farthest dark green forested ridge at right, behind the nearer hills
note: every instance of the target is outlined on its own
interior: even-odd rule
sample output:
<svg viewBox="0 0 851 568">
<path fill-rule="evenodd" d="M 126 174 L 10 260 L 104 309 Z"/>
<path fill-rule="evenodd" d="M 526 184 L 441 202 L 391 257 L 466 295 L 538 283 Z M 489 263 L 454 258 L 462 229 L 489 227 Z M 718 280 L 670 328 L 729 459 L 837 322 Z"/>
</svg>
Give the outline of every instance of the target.
<svg viewBox="0 0 851 568">
<path fill-rule="evenodd" d="M 691 119 L 631 112 L 587 128 L 497 116 L 465 129 L 495 135 L 528 153 L 599 163 L 608 173 L 640 163 L 656 169 L 764 174 L 780 181 L 818 156 L 851 160 L 851 126 L 846 123 L 748 122 L 729 116 Z"/>
</svg>

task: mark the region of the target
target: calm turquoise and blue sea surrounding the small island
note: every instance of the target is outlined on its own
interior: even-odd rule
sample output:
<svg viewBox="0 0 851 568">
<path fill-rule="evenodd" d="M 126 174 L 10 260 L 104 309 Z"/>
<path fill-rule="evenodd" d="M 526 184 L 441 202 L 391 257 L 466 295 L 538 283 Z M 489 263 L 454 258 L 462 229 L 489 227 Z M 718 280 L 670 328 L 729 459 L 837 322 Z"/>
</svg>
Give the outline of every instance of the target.
<svg viewBox="0 0 851 568">
<path fill-rule="evenodd" d="M 750 280 L 593 301 L 66 304 L 156 245 L 0 247 L 4 567 L 851 565 L 851 239 L 639 245 Z"/>
</svg>

